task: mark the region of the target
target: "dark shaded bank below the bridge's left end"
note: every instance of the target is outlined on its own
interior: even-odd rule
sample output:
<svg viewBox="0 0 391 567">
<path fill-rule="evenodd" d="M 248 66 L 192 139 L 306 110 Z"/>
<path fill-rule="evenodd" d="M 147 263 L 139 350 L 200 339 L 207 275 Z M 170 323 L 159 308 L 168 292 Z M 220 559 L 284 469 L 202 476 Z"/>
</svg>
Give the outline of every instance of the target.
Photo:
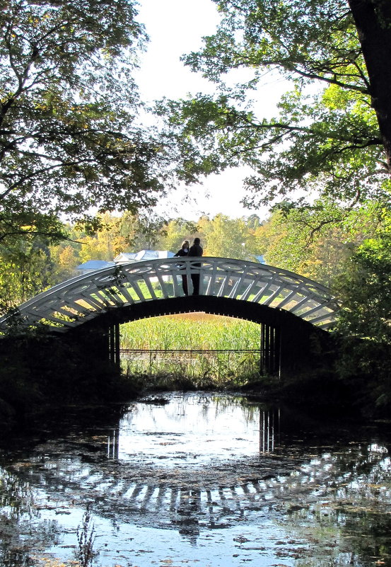
<svg viewBox="0 0 391 567">
<path fill-rule="evenodd" d="M 132 399 L 137 394 L 98 350 L 95 356 L 86 356 L 85 345 L 64 336 L 1 338 L 0 360 L 3 432 L 23 428 L 32 416 L 51 408 Z"/>
</svg>

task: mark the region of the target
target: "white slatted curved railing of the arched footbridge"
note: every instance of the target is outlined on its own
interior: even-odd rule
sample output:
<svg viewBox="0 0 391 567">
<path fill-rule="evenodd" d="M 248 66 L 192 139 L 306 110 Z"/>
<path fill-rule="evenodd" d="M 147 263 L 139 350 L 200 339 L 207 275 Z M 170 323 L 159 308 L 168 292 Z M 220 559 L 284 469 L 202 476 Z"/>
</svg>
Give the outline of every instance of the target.
<svg viewBox="0 0 391 567">
<path fill-rule="evenodd" d="M 320 328 L 336 319 L 339 303 L 323 285 L 273 266 L 230 258 L 164 258 L 126 263 L 51 287 L 0 317 L 0 331 L 15 324 L 44 324 L 67 331 L 109 309 L 181 297 L 182 275 L 192 293 L 192 274 L 200 276 L 200 295 L 228 297 L 286 309 Z"/>
</svg>

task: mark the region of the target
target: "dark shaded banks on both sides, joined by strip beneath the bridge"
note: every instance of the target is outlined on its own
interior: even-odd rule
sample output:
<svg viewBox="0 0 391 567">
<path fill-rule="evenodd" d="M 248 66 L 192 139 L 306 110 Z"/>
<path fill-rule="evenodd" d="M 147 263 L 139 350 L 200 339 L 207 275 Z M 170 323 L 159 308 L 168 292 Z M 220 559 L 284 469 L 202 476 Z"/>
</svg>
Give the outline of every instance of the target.
<svg viewBox="0 0 391 567">
<path fill-rule="evenodd" d="M 91 348 L 91 344 L 95 345 Z M 373 374 L 342 374 L 339 340 L 329 344 L 329 353 L 317 360 L 310 357 L 307 367 L 292 370 L 289 376 L 257 377 L 245 386 L 227 384 L 225 389 L 240 391 L 264 403 L 279 403 L 314 416 L 334 416 L 356 420 L 388 418 L 391 403 L 379 389 Z M 316 349 L 315 349 L 316 350 Z M 88 353 L 88 354 L 87 354 Z M 3 433 L 25 427 L 33 416 L 53 408 L 78 404 L 129 401 L 153 391 L 150 377 L 124 377 L 102 355 L 101 344 L 91 335 L 91 343 L 62 336 L 7 337 L 0 340 L 0 426 Z M 162 387 L 163 386 L 163 387 Z M 192 384 L 188 377 L 178 381 L 165 377 L 158 389 L 218 389 L 213 380 Z"/>
</svg>

